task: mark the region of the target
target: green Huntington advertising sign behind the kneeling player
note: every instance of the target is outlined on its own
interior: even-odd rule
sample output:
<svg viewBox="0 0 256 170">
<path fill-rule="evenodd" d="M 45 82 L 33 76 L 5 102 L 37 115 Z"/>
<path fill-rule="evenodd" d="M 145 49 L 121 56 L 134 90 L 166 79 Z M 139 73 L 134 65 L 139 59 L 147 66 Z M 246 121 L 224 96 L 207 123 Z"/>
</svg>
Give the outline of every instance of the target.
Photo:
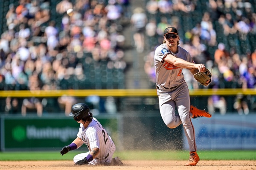
<svg viewBox="0 0 256 170">
<path fill-rule="evenodd" d="M 116 119 L 98 119 L 109 133 Z M 54 149 L 70 144 L 79 130 L 73 118 L 1 118 L 1 150 Z"/>
</svg>

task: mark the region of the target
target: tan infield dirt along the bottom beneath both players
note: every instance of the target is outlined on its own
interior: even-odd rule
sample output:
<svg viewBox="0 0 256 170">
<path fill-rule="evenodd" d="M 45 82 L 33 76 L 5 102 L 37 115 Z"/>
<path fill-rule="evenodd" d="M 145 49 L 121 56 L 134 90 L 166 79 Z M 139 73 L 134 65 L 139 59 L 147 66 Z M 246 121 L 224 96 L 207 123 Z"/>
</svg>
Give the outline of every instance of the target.
<svg viewBox="0 0 256 170">
<path fill-rule="evenodd" d="M 256 161 L 123 161 L 123 166 L 75 166 L 73 161 L 0 161 L 0 170 L 256 170 Z"/>
</svg>

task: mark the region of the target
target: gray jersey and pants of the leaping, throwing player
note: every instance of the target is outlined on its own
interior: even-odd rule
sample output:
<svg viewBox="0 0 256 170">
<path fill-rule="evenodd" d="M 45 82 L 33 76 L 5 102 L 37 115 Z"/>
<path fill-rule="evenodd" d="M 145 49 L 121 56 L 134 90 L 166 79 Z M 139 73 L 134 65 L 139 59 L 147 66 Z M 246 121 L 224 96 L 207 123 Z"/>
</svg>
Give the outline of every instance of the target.
<svg viewBox="0 0 256 170">
<path fill-rule="evenodd" d="M 171 52 L 165 43 L 155 50 L 154 66 L 156 72 L 156 87 L 159 99 L 160 114 L 169 128 L 183 124 L 185 135 L 189 143 L 190 152 L 196 151 L 195 133 L 190 119 L 189 89 L 182 74 L 182 68 L 164 61 L 166 55 L 172 54 L 188 62 L 192 57 L 185 49 L 178 46 L 178 52 Z M 193 62 L 194 63 L 194 62 Z M 175 115 L 177 107 L 178 115 Z"/>
</svg>

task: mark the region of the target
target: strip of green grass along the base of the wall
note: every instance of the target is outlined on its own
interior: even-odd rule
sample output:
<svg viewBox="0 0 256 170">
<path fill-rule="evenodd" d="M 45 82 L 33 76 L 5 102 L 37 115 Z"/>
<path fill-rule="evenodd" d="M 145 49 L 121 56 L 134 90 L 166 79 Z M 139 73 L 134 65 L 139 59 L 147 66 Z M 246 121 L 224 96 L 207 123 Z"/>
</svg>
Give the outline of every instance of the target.
<svg viewBox="0 0 256 170">
<path fill-rule="evenodd" d="M 64 156 L 59 152 L 0 152 L 0 161 L 22 160 L 73 160 L 81 151 L 71 151 Z M 188 151 L 116 151 L 114 156 L 122 160 L 186 160 Z M 256 160 L 255 150 L 198 151 L 201 160 Z"/>
</svg>

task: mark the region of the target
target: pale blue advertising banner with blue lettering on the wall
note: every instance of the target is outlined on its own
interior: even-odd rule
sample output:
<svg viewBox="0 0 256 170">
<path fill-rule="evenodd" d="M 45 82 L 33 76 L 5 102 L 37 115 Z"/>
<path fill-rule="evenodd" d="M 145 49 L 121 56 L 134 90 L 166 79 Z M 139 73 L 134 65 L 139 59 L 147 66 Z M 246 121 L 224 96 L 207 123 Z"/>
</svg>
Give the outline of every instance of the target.
<svg viewBox="0 0 256 170">
<path fill-rule="evenodd" d="M 198 150 L 256 149 L 256 114 L 192 119 Z M 184 149 L 188 142 L 183 133 Z"/>
</svg>

